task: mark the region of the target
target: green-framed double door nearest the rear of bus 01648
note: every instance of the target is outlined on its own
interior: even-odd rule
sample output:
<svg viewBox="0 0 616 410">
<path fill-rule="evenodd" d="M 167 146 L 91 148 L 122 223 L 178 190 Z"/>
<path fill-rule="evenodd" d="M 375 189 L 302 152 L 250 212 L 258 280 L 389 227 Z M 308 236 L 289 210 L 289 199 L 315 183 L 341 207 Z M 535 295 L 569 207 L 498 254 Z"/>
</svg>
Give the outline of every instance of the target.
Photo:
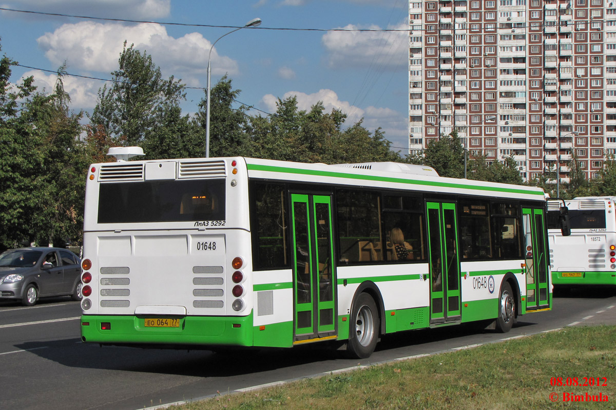
<svg viewBox="0 0 616 410">
<path fill-rule="evenodd" d="M 291 194 L 294 344 L 335 338 L 331 197 Z"/>
</svg>

